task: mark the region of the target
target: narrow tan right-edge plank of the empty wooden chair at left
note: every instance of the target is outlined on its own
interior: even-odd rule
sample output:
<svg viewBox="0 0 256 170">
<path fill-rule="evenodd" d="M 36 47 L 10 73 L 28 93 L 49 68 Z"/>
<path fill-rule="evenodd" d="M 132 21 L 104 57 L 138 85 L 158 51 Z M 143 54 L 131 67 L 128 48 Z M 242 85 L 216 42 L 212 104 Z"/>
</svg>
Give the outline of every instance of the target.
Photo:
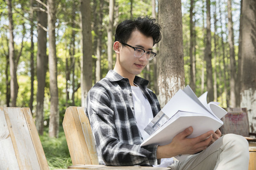
<svg viewBox="0 0 256 170">
<path fill-rule="evenodd" d="M 21 108 L 21 110 L 22 110 L 23 115 L 26 119 L 26 124 L 27 124 L 28 129 L 29 129 L 29 134 L 31 136 L 32 143 L 33 143 L 34 148 L 35 148 L 35 153 L 36 153 L 36 156 L 38 158 L 40 168 L 41 168 L 41 170 L 49 170 L 49 166 L 48 166 L 45 154 L 44 154 L 44 149 L 43 149 L 43 146 L 41 144 L 41 141 L 40 141 L 40 138 L 39 138 L 39 135 L 38 135 L 38 131 L 36 130 L 35 123 L 34 123 L 31 111 L 30 111 L 29 108 Z"/>
</svg>

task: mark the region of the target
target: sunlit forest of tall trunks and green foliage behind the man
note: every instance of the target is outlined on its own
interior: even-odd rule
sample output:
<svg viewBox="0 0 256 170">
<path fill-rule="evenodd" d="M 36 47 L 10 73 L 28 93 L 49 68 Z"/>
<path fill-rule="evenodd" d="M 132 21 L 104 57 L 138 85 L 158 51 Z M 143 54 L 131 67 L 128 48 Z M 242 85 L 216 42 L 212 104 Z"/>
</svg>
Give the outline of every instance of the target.
<svg viewBox="0 0 256 170">
<path fill-rule="evenodd" d="M 247 108 L 256 132 L 256 1 L 0 0 L 0 106 L 31 109 L 51 168 L 70 164 L 66 108 L 84 106 L 113 68 L 117 24 L 141 15 L 162 27 L 139 75 L 161 106 L 190 85 L 223 108 Z"/>
</svg>

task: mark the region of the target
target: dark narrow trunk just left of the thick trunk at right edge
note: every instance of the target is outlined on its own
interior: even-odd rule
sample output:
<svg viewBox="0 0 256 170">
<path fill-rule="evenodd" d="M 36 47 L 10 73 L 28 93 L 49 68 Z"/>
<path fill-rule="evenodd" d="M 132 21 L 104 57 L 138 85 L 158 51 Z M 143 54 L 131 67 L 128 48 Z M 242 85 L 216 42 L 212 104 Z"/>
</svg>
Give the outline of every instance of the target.
<svg viewBox="0 0 256 170">
<path fill-rule="evenodd" d="M 241 18 L 242 18 L 242 8 L 243 8 L 243 0 L 241 0 L 241 6 L 240 6 L 240 19 L 239 19 L 239 46 L 238 46 L 238 73 L 236 76 L 236 106 L 240 106 L 240 102 L 241 102 L 241 96 L 240 96 L 240 92 L 241 92 L 241 84 L 242 84 L 242 77 L 241 77 L 241 52 L 242 52 L 242 30 L 241 30 Z"/>
</svg>

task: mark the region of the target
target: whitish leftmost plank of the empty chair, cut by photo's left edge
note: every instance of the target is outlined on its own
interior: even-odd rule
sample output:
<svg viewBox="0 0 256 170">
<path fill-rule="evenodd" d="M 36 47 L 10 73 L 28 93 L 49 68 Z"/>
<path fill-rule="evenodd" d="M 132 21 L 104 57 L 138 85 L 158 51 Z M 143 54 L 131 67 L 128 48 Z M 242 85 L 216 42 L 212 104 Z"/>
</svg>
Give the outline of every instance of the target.
<svg viewBox="0 0 256 170">
<path fill-rule="evenodd" d="M 19 170 L 3 108 L 0 107 L 0 170 Z"/>
</svg>

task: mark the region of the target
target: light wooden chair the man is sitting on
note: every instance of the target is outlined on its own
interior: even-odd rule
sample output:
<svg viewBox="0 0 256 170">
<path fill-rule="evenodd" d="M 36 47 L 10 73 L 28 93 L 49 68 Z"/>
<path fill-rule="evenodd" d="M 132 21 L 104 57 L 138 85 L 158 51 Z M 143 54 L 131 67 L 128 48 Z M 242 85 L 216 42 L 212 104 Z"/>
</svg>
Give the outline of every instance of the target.
<svg viewBox="0 0 256 170">
<path fill-rule="evenodd" d="M 73 166 L 68 167 L 70 169 L 170 170 L 170 168 L 167 167 L 113 167 L 99 165 L 90 122 L 84 113 L 84 108 L 82 107 L 67 108 L 62 125 L 73 164 Z"/>
</svg>

